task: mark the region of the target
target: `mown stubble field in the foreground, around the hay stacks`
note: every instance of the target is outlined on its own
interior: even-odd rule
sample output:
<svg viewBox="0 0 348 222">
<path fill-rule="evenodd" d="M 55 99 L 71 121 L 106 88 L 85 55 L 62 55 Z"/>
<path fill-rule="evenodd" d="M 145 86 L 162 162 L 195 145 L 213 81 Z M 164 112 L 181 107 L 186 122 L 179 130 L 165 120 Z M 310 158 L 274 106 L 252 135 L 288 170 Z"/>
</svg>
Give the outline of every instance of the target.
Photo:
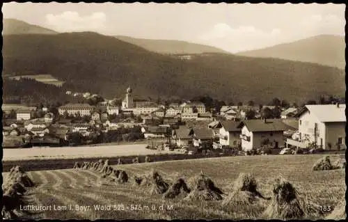
<svg viewBox="0 0 348 222">
<path fill-rule="evenodd" d="M 345 171 L 312 171 L 313 164 L 321 157 L 323 155 L 319 154 L 221 157 L 114 166 L 126 171 L 131 178 L 125 184 L 100 185 L 99 173 L 81 169 L 29 171 L 29 176 L 38 185 L 29 191 L 29 198 L 35 201 L 35 205 L 52 206 L 51 210 L 34 212 L 35 219 L 61 220 L 262 219 L 262 212 L 270 201 L 262 200 L 253 207 L 237 205 L 223 208 L 221 201 L 164 200 L 161 195 L 150 196 L 148 190 L 134 187 L 134 175 L 155 169 L 164 179 L 173 179 L 179 173 L 185 181 L 203 171 L 224 193 L 230 193 L 230 185 L 239 173 L 252 173 L 258 182 L 258 190 L 264 196 L 271 196 L 272 182 L 278 175 L 283 175 L 296 187 L 299 196 L 333 209 L 345 196 Z M 333 161 L 338 158 L 338 155 L 331 155 Z M 6 173 L 3 176 L 6 180 Z M 67 206 L 67 209 L 62 212 L 58 210 L 58 205 Z M 111 205 L 111 209 L 94 208 L 101 205 Z M 161 205 L 163 209 L 159 209 Z M 76 206 L 90 208 L 84 211 L 81 208 L 77 210 Z"/>
</svg>

